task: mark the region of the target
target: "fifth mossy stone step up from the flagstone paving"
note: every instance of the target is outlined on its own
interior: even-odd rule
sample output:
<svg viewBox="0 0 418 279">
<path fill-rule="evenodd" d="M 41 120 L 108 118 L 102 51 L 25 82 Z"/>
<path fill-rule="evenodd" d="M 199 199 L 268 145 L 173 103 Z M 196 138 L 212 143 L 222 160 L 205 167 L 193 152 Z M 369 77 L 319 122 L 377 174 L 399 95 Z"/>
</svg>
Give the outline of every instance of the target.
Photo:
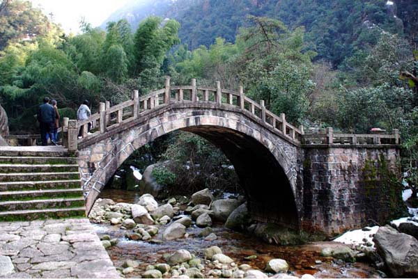
<svg viewBox="0 0 418 279">
<path fill-rule="evenodd" d="M 78 172 L 65 173 L 0 173 L 0 182 L 26 182 L 46 180 L 78 180 Z"/>
</svg>

